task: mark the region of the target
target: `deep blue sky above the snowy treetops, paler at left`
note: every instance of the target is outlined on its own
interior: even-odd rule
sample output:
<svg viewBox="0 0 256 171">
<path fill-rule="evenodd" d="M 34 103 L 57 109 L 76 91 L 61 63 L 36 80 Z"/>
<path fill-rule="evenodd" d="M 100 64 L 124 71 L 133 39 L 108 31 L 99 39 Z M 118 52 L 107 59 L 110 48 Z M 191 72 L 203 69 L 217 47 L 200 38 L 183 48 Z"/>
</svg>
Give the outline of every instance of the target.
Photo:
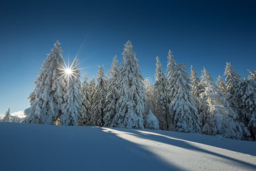
<svg viewBox="0 0 256 171">
<path fill-rule="evenodd" d="M 167 52 L 178 63 L 203 66 L 213 78 L 231 62 L 241 77 L 256 69 L 256 5 L 253 1 L 35 1 L 0 4 L 0 114 L 29 107 L 28 95 L 53 43 L 63 57 L 78 55 L 91 78 L 98 64 L 122 62 L 131 40 L 144 77 L 154 78 L 155 57 L 166 69 Z M 189 71 L 190 73 L 190 71 Z"/>
</svg>

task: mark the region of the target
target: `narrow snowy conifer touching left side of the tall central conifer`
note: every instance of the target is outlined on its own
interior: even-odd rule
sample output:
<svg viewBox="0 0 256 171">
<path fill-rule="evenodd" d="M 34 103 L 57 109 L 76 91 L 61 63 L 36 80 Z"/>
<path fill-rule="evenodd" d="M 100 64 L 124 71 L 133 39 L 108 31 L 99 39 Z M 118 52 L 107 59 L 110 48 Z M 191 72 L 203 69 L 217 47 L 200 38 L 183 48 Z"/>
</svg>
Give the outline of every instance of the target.
<svg viewBox="0 0 256 171">
<path fill-rule="evenodd" d="M 118 100 L 117 81 L 120 73 L 120 69 L 117 61 L 118 60 L 115 55 L 113 58 L 111 68 L 109 69 L 109 74 L 111 74 L 112 78 L 108 79 L 108 94 L 106 96 L 107 107 L 105 109 L 106 115 L 103 118 L 104 126 L 110 126 L 110 127 L 116 126 L 115 123 L 113 123 L 113 118 L 116 115 L 116 102 Z"/>
</svg>

